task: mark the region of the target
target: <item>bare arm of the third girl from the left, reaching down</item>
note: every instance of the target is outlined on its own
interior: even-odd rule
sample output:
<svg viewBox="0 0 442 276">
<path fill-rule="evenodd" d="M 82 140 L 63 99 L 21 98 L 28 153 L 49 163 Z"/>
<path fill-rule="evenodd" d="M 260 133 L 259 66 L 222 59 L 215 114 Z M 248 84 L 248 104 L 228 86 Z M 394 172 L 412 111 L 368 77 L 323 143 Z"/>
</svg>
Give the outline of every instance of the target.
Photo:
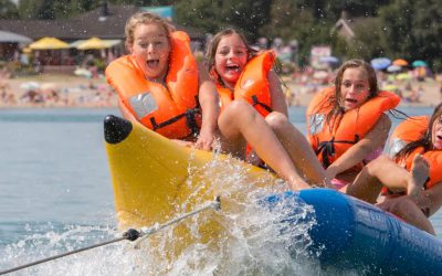
<svg viewBox="0 0 442 276">
<path fill-rule="evenodd" d="M 383 147 L 390 131 L 391 120 L 383 114 L 375 127 L 357 144 L 326 169 L 326 181 L 361 162 L 368 155 Z"/>
</svg>

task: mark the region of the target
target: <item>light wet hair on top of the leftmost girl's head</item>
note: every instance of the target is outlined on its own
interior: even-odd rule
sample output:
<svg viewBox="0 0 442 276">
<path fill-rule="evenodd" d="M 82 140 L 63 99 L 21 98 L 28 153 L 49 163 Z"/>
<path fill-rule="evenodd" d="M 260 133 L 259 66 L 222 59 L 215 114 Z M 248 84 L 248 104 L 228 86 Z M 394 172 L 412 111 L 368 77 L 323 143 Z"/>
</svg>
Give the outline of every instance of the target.
<svg viewBox="0 0 442 276">
<path fill-rule="evenodd" d="M 126 35 L 126 49 L 129 51 L 134 44 L 134 31 L 135 28 L 140 24 L 159 24 L 164 30 L 167 38 L 170 40 L 170 33 L 175 31 L 175 28 L 164 18 L 150 12 L 137 12 L 126 21 L 125 35 Z"/>
</svg>

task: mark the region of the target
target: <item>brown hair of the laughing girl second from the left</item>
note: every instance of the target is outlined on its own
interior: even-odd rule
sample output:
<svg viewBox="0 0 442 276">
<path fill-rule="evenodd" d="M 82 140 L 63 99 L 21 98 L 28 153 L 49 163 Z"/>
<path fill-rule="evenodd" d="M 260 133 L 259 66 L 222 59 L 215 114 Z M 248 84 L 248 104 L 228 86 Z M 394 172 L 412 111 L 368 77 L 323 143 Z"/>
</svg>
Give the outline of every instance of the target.
<svg viewBox="0 0 442 276">
<path fill-rule="evenodd" d="M 215 55 L 217 55 L 218 45 L 220 44 L 221 40 L 224 36 L 229 36 L 232 34 L 236 34 L 238 36 L 240 36 L 240 39 L 244 43 L 245 50 L 248 52 L 248 61 L 257 54 L 256 50 L 249 46 L 248 40 L 245 39 L 244 34 L 240 33 L 239 31 L 229 28 L 229 29 L 224 29 L 224 30 L 218 32 L 213 36 L 213 39 L 210 41 L 210 43 L 208 45 L 208 50 L 206 52 L 206 66 L 210 73 L 210 76 L 217 83 L 221 83 L 221 84 L 223 83 L 221 77 L 218 75 L 218 73 L 215 71 L 215 66 L 214 66 L 214 60 L 215 60 Z"/>
</svg>

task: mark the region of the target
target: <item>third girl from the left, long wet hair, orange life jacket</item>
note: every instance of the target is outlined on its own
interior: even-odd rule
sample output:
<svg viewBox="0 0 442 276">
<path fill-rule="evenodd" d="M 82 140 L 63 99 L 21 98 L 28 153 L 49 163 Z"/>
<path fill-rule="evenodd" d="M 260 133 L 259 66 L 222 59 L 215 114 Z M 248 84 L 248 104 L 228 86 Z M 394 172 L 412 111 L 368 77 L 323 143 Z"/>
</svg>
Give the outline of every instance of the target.
<svg viewBox="0 0 442 276">
<path fill-rule="evenodd" d="M 312 99 L 307 137 L 328 185 L 346 192 L 361 168 L 382 153 L 391 127 L 385 112 L 399 102 L 396 94 L 378 89 L 375 70 L 362 60 L 344 63 L 335 85 Z"/>
</svg>

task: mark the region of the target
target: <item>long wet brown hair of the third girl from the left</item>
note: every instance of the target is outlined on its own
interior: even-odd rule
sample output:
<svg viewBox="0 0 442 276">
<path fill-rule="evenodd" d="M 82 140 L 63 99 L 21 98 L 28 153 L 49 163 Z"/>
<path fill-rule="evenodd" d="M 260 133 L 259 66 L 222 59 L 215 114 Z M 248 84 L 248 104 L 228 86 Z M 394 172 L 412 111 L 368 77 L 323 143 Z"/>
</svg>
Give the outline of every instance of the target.
<svg viewBox="0 0 442 276">
<path fill-rule="evenodd" d="M 344 72 L 348 68 L 361 68 L 366 72 L 367 74 L 367 81 L 368 81 L 368 89 L 369 89 L 369 95 L 368 99 L 376 97 L 379 94 L 379 87 L 378 87 L 378 78 L 376 77 L 376 72 L 371 67 L 369 63 L 362 60 L 349 60 L 345 62 L 338 70 L 338 73 L 336 74 L 335 78 L 335 95 L 333 98 L 328 99 L 330 100 L 330 105 L 333 105 L 333 108 L 330 112 L 327 114 L 327 121 L 329 123 L 335 116 L 343 116 L 345 110 L 341 105 L 341 92 L 340 92 L 340 86 L 343 84 L 343 77 L 344 77 Z"/>
</svg>

